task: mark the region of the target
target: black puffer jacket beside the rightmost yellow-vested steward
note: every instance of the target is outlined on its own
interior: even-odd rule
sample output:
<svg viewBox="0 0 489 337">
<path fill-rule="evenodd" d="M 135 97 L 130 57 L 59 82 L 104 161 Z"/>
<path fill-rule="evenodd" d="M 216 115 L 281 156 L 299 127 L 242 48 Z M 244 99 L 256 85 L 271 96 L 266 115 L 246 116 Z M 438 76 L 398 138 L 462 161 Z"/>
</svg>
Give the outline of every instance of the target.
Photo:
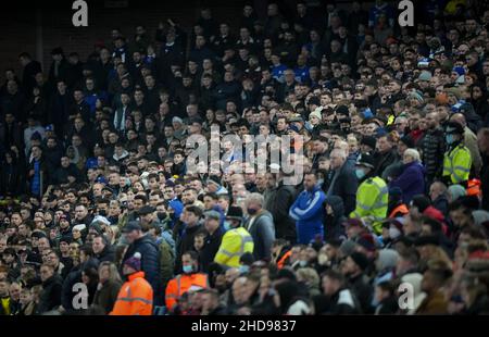
<svg viewBox="0 0 489 337">
<path fill-rule="evenodd" d="M 425 136 L 418 142 L 418 147 L 423 153 L 422 161 L 425 165 L 426 177 L 428 182 L 431 182 L 442 168 L 440 163 L 443 162 L 446 150 L 443 130 L 440 127 L 426 130 Z"/>
</svg>

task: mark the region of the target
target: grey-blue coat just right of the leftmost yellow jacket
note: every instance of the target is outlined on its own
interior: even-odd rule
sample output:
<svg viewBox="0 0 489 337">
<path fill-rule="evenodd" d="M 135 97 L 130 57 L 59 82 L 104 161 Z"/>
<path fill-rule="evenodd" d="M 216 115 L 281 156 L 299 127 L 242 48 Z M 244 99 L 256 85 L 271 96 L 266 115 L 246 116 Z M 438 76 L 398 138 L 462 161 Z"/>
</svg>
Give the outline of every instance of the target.
<svg viewBox="0 0 489 337">
<path fill-rule="evenodd" d="M 254 216 L 249 216 L 243 227 L 253 238 L 254 260 L 269 261 L 272 259 L 272 245 L 275 240 L 275 226 L 272 213 L 262 209 Z"/>
</svg>

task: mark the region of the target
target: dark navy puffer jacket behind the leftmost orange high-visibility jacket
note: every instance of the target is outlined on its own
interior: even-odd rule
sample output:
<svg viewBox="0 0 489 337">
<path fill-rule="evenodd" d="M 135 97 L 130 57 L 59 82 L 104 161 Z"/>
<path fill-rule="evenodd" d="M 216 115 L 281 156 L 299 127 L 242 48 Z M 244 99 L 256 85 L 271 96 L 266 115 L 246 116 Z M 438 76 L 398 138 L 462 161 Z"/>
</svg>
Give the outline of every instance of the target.
<svg viewBox="0 0 489 337">
<path fill-rule="evenodd" d="M 156 242 L 148 235 L 145 235 L 129 245 L 123 261 L 134 257 L 136 252 L 141 254 L 141 270 L 145 272 L 146 280 L 153 288 L 154 302 L 159 304 L 162 300 L 163 289 L 161 288 L 160 277 L 160 251 Z"/>
</svg>

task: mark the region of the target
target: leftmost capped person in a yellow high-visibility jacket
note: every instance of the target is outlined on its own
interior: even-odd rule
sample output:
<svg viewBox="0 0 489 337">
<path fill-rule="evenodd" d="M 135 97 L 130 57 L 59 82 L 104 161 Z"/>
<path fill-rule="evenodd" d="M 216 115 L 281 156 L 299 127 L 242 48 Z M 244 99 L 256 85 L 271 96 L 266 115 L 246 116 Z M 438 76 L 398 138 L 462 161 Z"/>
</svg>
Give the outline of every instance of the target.
<svg viewBox="0 0 489 337">
<path fill-rule="evenodd" d="M 241 208 L 234 205 L 229 207 L 226 221 L 229 222 L 229 227 L 231 229 L 227 230 L 223 236 L 214 262 L 228 267 L 239 267 L 239 258 L 244 253 L 253 253 L 253 238 L 247 229 L 241 227 Z"/>
</svg>

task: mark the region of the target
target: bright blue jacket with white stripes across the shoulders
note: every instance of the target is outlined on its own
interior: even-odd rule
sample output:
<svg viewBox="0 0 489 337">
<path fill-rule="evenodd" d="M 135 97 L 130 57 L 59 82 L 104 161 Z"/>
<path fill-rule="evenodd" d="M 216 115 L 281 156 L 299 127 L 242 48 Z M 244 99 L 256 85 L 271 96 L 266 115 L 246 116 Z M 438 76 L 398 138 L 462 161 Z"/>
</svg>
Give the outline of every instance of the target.
<svg viewBox="0 0 489 337">
<path fill-rule="evenodd" d="M 318 186 L 304 190 L 290 207 L 289 215 L 296 221 L 298 242 L 308 245 L 323 235 L 323 202 L 325 194 Z"/>
</svg>

